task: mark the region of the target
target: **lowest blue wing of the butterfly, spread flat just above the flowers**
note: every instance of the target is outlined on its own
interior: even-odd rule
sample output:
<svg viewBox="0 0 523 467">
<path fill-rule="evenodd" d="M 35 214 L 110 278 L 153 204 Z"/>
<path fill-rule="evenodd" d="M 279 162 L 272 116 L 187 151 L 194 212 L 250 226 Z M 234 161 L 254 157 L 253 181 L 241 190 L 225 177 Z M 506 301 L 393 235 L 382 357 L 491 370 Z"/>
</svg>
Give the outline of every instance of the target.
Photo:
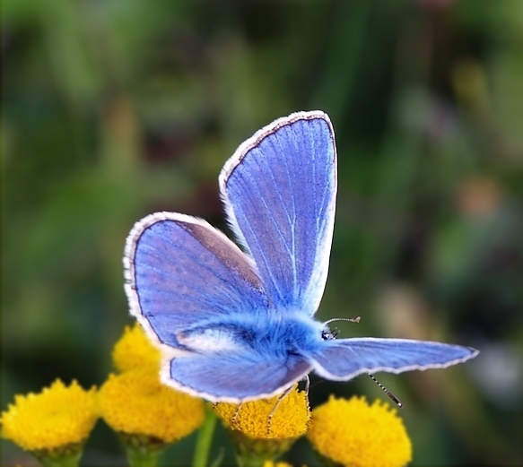
<svg viewBox="0 0 523 467">
<path fill-rule="evenodd" d="M 298 355 L 260 359 L 255 352 L 192 353 L 166 360 L 161 380 L 175 389 L 213 402 L 245 402 L 273 397 L 311 370 Z"/>
</svg>

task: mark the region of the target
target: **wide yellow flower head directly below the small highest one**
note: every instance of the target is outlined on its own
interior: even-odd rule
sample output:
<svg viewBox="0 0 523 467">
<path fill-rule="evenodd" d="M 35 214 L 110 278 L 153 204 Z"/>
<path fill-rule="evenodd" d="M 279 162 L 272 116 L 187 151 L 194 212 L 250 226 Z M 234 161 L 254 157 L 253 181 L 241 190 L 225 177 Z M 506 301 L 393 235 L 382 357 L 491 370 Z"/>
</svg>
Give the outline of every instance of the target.
<svg viewBox="0 0 523 467">
<path fill-rule="evenodd" d="M 171 443 L 204 421 L 204 402 L 162 385 L 158 369 L 135 368 L 100 388 L 101 416 L 115 431 L 156 437 Z"/>
</svg>

